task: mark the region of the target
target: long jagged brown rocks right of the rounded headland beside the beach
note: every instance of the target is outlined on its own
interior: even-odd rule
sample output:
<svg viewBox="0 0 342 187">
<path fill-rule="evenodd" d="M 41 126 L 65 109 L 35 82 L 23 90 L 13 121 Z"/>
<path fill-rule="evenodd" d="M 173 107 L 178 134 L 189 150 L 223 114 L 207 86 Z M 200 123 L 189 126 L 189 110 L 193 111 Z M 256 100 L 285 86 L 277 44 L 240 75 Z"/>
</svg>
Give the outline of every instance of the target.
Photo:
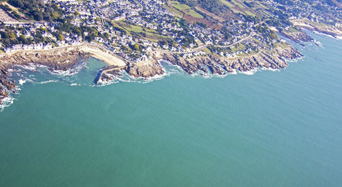
<svg viewBox="0 0 342 187">
<path fill-rule="evenodd" d="M 191 59 L 181 58 L 177 55 L 164 54 L 163 60 L 168 60 L 176 66 L 180 66 L 186 73 L 193 74 L 200 70 L 205 73 L 224 75 L 226 72 L 251 71 L 254 68 L 285 68 L 287 59 L 302 57 L 302 54 L 293 47 L 276 48 L 272 53 L 261 51 L 257 55 L 239 58 L 222 58 L 214 55 L 197 56 Z M 224 70 L 224 71 L 223 71 Z"/>
</svg>

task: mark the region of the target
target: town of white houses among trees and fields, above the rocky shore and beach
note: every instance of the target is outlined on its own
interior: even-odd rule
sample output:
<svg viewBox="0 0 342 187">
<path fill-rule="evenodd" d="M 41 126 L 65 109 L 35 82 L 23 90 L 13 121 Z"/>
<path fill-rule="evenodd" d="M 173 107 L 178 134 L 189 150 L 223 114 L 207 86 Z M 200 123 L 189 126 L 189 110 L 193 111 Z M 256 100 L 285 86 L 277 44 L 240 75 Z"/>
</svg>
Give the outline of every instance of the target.
<svg viewBox="0 0 342 187">
<path fill-rule="evenodd" d="M 219 21 L 205 11 L 200 12 L 199 8 L 179 1 L 35 2 L 40 8 L 27 8 L 30 10 L 23 10 L 25 5 L 21 0 L 1 2 L 0 49 L 3 53 L 55 49 L 89 42 L 131 62 L 148 60 L 154 51 L 176 53 L 185 58 L 206 53 L 231 58 L 284 44 L 285 40 L 278 38 L 276 32 L 299 32 L 289 21 L 291 18 L 305 17 L 339 26 L 339 21 L 319 17 L 315 11 L 336 13 L 341 9 L 321 5 L 318 1 L 312 7 L 320 9 L 304 9 L 305 2 L 283 5 L 281 1 L 265 1 L 244 4 L 246 8 L 254 6 L 254 10 L 260 8 L 256 5 L 270 7 L 262 16 L 253 15 L 250 9 L 250 14 L 238 12 L 230 20 Z M 185 12 L 183 17 L 177 16 L 180 10 L 189 14 Z M 335 16 L 339 18 L 341 14 Z M 192 18 L 195 21 L 192 22 Z M 207 24 L 207 20 L 214 24 Z"/>
</svg>

